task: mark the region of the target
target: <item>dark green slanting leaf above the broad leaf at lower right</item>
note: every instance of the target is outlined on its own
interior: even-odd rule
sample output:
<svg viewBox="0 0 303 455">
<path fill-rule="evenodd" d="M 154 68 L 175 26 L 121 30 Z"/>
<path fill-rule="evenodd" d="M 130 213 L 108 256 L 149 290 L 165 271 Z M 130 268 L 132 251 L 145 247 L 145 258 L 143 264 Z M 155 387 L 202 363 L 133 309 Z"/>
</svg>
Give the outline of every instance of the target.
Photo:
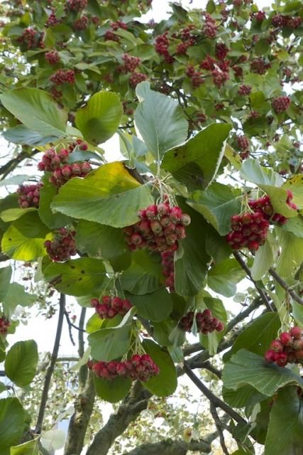
<svg viewBox="0 0 303 455">
<path fill-rule="evenodd" d="M 277 313 L 265 313 L 258 316 L 243 332 L 238 335 L 236 341 L 226 357 L 230 358 L 240 349 L 247 349 L 250 352 L 264 355 L 270 348 L 270 343 L 277 337 L 277 331 L 281 327 Z"/>
</svg>

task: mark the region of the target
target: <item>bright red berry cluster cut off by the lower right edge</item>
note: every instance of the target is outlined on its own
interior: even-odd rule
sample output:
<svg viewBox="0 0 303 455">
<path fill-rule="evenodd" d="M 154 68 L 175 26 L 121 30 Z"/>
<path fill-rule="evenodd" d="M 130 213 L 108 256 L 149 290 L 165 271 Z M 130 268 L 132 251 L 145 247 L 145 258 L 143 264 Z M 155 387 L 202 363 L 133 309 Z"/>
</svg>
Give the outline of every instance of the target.
<svg viewBox="0 0 303 455">
<path fill-rule="evenodd" d="M 303 330 L 292 327 L 289 332 L 280 333 L 279 338 L 272 341 L 270 349 L 265 353 L 268 363 L 277 363 L 285 367 L 287 363 L 303 363 Z"/>
</svg>

